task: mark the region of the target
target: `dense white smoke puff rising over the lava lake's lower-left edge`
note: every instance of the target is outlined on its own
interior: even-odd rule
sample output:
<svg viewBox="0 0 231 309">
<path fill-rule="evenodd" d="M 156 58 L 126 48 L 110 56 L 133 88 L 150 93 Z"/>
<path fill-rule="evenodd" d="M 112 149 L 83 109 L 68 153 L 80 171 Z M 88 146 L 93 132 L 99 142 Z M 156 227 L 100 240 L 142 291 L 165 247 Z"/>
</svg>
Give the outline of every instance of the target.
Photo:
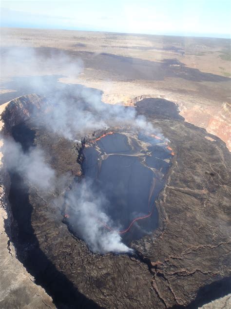
<svg viewBox="0 0 231 309">
<path fill-rule="evenodd" d="M 77 183 L 68 193 L 66 200 L 72 213 L 70 223 L 75 223 L 74 229 L 77 234 L 94 252 L 132 252 L 132 249 L 122 243 L 116 229 L 108 231 L 103 226 L 113 224 L 105 213 L 108 203 L 101 192 L 94 192 L 90 180 Z"/>
</svg>

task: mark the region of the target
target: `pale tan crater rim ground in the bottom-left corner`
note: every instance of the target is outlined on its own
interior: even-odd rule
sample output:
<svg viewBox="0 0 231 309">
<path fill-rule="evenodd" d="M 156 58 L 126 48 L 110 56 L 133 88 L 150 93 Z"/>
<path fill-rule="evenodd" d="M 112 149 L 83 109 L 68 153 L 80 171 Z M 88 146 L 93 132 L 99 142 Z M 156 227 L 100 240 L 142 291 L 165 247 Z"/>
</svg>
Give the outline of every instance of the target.
<svg viewBox="0 0 231 309">
<path fill-rule="evenodd" d="M 5 183 L 7 186 L 7 183 Z M 0 186 L 0 308 L 56 308 L 45 290 L 35 284 L 34 277 L 19 262 L 9 233 L 12 220 L 5 187 Z"/>
</svg>

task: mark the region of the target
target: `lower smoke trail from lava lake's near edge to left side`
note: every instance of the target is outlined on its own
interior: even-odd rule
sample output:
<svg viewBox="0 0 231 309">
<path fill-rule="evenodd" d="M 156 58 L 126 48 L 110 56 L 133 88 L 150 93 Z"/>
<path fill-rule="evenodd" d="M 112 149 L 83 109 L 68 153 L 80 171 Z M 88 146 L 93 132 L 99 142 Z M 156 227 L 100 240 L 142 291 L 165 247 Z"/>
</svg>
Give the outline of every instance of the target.
<svg viewBox="0 0 231 309">
<path fill-rule="evenodd" d="M 41 149 L 32 147 L 24 152 L 14 139 L 3 138 L 3 140 L 1 152 L 8 171 L 18 173 L 41 193 L 55 189 L 61 194 L 65 193 L 68 175 L 57 177 L 46 162 Z M 58 199 L 55 202 L 59 204 Z M 72 212 L 71 222 L 74 223 L 75 231 L 92 251 L 102 254 L 133 251 L 122 243 L 116 229 L 107 231 L 103 227 L 102 223 L 113 226 L 113 222 L 104 211 L 108 201 L 101 192 L 94 192 L 90 180 L 76 183 L 67 193 L 66 204 Z"/>
</svg>

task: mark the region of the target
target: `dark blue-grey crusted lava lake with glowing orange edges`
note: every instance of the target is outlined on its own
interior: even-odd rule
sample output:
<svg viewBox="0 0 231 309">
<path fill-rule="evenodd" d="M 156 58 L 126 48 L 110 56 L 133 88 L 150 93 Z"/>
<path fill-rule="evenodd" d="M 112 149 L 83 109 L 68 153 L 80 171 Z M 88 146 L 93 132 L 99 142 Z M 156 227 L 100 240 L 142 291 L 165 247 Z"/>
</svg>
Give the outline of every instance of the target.
<svg viewBox="0 0 231 309">
<path fill-rule="evenodd" d="M 174 155 L 164 139 L 142 132 L 106 132 L 86 143 L 83 154 L 84 181 L 91 179 L 92 189 L 106 197 L 103 211 L 111 224 L 96 217 L 102 229 L 116 230 L 130 243 L 158 227 L 155 200 Z M 66 217 L 78 235 L 72 209 L 66 209 Z"/>
</svg>

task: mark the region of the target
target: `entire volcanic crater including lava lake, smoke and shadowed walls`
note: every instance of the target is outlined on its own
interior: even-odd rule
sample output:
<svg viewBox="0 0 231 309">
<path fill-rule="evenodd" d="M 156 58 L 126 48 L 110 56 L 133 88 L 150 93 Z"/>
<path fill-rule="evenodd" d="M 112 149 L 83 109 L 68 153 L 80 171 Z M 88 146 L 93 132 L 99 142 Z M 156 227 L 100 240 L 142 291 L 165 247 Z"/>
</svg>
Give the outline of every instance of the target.
<svg viewBox="0 0 231 309">
<path fill-rule="evenodd" d="M 96 122 L 66 88 L 59 106 L 28 94 L 2 113 L 6 231 L 51 307 L 198 308 L 227 295 L 225 143 L 159 98 L 100 101 Z"/>
</svg>

